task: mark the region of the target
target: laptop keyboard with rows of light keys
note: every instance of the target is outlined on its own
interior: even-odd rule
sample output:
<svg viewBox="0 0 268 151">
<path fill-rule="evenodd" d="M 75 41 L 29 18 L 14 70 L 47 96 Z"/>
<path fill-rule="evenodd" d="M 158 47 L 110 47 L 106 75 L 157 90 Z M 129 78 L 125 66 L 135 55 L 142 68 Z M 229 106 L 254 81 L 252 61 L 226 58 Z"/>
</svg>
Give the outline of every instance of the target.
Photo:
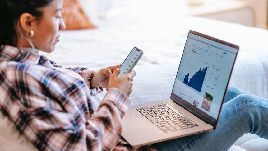
<svg viewBox="0 0 268 151">
<path fill-rule="evenodd" d="M 179 113 L 178 111 L 171 110 L 166 105 L 167 103 L 162 103 L 137 108 L 136 110 L 138 110 L 142 115 L 148 118 L 165 133 L 198 126 L 195 122 L 183 114 Z"/>
</svg>

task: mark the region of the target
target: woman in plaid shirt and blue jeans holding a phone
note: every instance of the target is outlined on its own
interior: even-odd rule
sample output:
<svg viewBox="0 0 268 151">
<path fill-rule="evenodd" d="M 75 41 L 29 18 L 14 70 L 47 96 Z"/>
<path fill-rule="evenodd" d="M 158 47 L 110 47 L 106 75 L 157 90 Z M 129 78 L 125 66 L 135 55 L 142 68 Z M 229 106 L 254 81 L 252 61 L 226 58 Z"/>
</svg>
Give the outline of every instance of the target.
<svg viewBox="0 0 268 151">
<path fill-rule="evenodd" d="M 65 28 L 62 2 L 0 0 L 0 110 L 39 150 L 132 150 L 120 140 L 120 121 L 135 71 L 117 78 L 119 65 L 64 69 L 38 54 L 52 52 Z M 90 96 L 102 88 L 93 113 Z M 244 133 L 268 139 L 267 109 L 267 99 L 229 87 L 216 130 L 143 149 L 227 150 Z"/>
</svg>

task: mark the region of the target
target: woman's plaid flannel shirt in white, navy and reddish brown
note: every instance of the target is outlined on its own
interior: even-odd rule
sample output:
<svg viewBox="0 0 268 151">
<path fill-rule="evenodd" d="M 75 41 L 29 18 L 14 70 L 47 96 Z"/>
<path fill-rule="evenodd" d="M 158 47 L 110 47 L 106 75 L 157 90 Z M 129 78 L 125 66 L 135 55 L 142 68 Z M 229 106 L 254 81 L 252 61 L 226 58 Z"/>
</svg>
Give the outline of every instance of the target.
<svg viewBox="0 0 268 151">
<path fill-rule="evenodd" d="M 120 139 L 121 118 L 131 103 L 128 97 L 110 88 L 93 113 L 90 96 L 102 92 L 100 87 L 90 88 L 96 71 L 67 68 L 83 82 L 57 68 L 62 67 L 38 52 L 3 46 L 0 111 L 39 150 L 134 150 Z"/>
</svg>

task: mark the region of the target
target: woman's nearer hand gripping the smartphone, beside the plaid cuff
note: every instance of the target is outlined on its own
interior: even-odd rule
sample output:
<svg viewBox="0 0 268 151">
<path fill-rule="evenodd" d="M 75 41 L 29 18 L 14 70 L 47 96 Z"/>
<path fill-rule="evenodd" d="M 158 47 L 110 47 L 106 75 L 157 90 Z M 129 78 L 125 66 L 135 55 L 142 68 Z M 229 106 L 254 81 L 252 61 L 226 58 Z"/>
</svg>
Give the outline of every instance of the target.
<svg viewBox="0 0 268 151">
<path fill-rule="evenodd" d="M 132 92 L 132 86 L 133 86 L 132 78 L 136 75 L 136 72 L 131 71 L 130 73 L 127 73 L 122 77 L 118 78 L 119 73 L 120 69 L 116 69 L 113 71 L 112 75 L 110 76 L 110 80 L 106 90 L 115 87 L 120 89 L 124 94 L 126 94 L 129 97 L 129 94 Z"/>
</svg>

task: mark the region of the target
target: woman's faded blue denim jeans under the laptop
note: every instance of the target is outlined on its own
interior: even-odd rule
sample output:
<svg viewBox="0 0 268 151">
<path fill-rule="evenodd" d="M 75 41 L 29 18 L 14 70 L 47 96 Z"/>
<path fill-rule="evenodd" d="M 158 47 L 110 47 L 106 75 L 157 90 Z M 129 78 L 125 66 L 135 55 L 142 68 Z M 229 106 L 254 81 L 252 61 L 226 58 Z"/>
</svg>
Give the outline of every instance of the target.
<svg viewBox="0 0 268 151">
<path fill-rule="evenodd" d="M 215 130 L 152 144 L 162 151 L 226 151 L 245 133 L 268 139 L 268 99 L 228 87 Z"/>
</svg>

